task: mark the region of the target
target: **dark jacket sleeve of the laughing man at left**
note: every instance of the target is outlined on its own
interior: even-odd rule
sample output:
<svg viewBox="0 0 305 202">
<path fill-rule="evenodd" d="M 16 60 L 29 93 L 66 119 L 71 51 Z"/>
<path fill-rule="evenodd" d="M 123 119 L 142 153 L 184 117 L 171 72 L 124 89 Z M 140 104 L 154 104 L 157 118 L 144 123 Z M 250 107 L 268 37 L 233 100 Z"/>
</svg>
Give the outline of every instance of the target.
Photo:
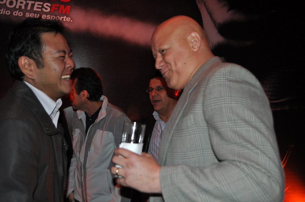
<svg viewBox="0 0 305 202">
<path fill-rule="evenodd" d="M 34 201 L 39 135 L 21 119 L 0 121 L 0 201 Z"/>
</svg>

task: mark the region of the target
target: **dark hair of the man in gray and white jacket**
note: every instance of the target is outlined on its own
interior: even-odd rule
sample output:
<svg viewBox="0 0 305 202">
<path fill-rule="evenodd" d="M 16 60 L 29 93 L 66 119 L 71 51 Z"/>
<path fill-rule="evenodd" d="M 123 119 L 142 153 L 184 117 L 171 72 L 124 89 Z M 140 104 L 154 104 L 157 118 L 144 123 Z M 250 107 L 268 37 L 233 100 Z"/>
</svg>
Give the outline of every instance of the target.
<svg viewBox="0 0 305 202">
<path fill-rule="evenodd" d="M 89 93 L 87 98 L 90 101 L 98 101 L 103 95 L 103 84 L 99 74 L 92 68 L 81 67 L 74 69 L 71 74 L 71 79 L 77 78 L 74 84 L 77 95 L 83 90 Z"/>
</svg>

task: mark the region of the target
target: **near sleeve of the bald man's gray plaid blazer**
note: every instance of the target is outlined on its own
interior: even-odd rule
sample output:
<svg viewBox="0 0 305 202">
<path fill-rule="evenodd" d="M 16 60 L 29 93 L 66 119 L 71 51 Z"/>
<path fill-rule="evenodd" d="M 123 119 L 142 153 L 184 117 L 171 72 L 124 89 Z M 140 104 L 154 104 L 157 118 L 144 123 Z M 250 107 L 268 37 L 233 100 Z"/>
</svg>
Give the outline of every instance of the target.
<svg viewBox="0 0 305 202">
<path fill-rule="evenodd" d="M 203 110 L 194 106 L 190 123 L 206 122 L 211 144 L 206 155 L 215 155 L 218 162 L 162 166 L 164 201 L 282 201 L 284 175 L 271 109 L 259 82 L 246 69 L 229 66 L 205 85 Z"/>
</svg>

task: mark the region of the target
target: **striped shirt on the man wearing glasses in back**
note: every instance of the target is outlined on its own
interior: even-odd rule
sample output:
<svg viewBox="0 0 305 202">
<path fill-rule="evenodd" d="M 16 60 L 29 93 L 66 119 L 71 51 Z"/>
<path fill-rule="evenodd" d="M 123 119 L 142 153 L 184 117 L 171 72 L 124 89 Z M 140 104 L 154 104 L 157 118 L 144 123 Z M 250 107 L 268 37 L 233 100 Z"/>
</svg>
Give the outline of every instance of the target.
<svg viewBox="0 0 305 202">
<path fill-rule="evenodd" d="M 148 153 L 158 161 L 161 134 L 164 131 L 166 123 L 159 117 L 156 111 L 153 112 L 153 116 L 156 119 L 156 123 L 152 131 L 152 137 L 150 138 Z"/>
</svg>

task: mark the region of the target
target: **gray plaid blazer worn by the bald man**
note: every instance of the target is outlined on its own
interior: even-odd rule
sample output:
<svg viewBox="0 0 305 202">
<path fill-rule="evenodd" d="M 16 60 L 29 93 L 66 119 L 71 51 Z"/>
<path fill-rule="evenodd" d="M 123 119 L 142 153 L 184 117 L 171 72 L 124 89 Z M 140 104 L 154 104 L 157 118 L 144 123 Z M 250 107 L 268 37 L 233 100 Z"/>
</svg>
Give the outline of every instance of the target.
<svg viewBox="0 0 305 202">
<path fill-rule="evenodd" d="M 284 174 L 269 101 L 237 64 L 207 61 L 163 132 L 162 197 L 149 201 L 282 201 Z"/>
</svg>

